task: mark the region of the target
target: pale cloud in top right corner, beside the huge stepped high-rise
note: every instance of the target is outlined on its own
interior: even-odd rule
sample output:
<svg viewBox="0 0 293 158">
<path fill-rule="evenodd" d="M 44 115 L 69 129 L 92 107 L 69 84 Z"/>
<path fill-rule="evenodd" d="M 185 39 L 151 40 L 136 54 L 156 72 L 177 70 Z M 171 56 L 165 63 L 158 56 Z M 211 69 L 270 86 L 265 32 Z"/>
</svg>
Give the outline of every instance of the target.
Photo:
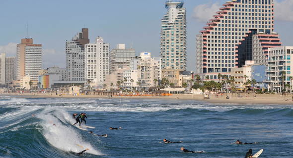
<svg viewBox="0 0 293 158">
<path fill-rule="evenodd" d="M 293 0 L 283 0 L 281 2 L 275 0 L 274 4 L 276 20 L 293 21 Z"/>
</svg>

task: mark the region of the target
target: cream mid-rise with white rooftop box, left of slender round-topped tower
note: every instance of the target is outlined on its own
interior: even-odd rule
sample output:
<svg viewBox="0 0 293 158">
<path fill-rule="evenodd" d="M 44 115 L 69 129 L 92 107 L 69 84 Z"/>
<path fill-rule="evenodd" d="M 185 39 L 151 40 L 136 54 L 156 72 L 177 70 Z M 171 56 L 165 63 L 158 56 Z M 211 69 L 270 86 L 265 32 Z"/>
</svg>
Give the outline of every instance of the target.
<svg viewBox="0 0 293 158">
<path fill-rule="evenodd" d="M 139 57 L 138 65 L 138 80 L 141 82 L 140 87 L 147 89 L 149 87 L 155 86 L 154 79 L 156 79 L 156 84 L 161 80 L 161 58 L 151 58 L 150 53 L 142 52 Z"/>
</svg>

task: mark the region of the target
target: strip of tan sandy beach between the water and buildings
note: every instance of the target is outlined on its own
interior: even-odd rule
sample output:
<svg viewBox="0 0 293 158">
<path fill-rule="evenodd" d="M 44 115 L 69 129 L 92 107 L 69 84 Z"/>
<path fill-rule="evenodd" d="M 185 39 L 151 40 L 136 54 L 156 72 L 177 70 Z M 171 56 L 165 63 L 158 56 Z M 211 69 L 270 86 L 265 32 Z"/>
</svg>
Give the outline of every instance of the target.
<svg viewBox="0 0 293 158">
<path fill-rule="evenodd" d="M 241 93 L 242 94 L 242 93 Z M 2 93 L 3 96 L 15 96 L 15 93 Z M 230 94 L 228 94 L 230 96 Z M 72 96 L 72 95 L 64 95 L 58 96 L 56 94 L 31 94 L 31 93 L 24 93 L 24 94 L 17 94 L 17 96 L 21 97 L 31 97 L 31 98 L 105 98 L 106 96 L 101 95 L 79 95 L 79 96 Z M 210 99 L 203 99 L 202 94 L 173 94 L 172 96 L 122 96 L 122 99 L 179 99 L 179 100 L 198 100 L 198 101 L 205 101 L 210 103 L 233 103 L 233 104 L 282 104 L 282 105 L 293 105 L 292 101 L 292 94 L 288 94 L 288 96 L 280 95 L 280 94 L 257 94 L 257 97 L 253 97 L 252 94 L 247 94 L 247 97 L 237 97 L 237 94 L 231 95 L 230 99 L 226 99 L 226 94 L 223 96 L 219 95 L 219 98 L 216 98 L 215 94 L 211 94 Z M 120 96 L 112 96 L 113 99 L 120 99 Z M 286 101 L 288 99 L 288 101 Z"/>
</svg>

